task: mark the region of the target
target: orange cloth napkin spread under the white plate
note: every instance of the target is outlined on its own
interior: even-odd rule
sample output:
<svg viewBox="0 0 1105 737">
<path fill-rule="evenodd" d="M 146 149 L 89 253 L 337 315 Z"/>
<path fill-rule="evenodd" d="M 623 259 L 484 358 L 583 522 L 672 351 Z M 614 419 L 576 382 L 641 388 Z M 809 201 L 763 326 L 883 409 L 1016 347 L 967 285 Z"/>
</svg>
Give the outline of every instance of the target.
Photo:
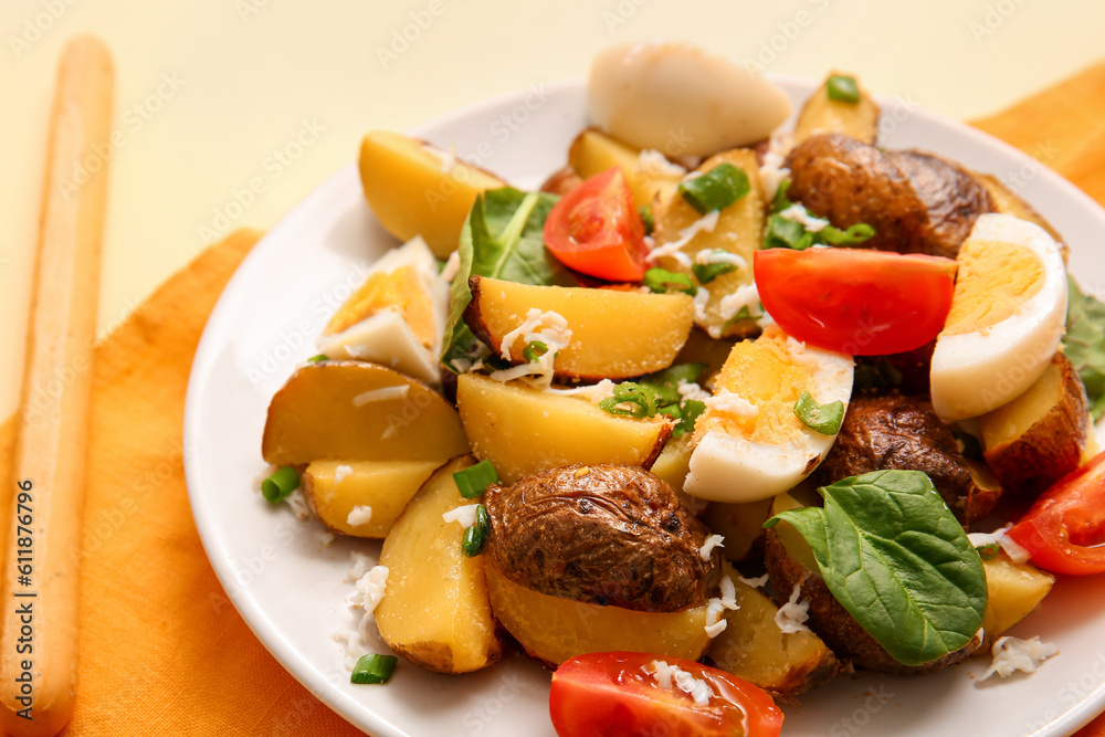
<svg viewBox="0 0 1105 737">
<path fill-rule="evenodd" d="M 976 125 L 1105 202 L 1105 63 Z M 238 615 L 188 507 L 181 425 L 208 314 L 260 233 L 173 275 L 96 349 L 82 556 L 81 661 L 70 737 L 357 735 Z M 13 422 L 0 425 L 0 477 Z M 0 491 L 0 514 L 11 508 Z M 1105 737 L 1105 716 L 1077 737 Z"/>
</svg>

